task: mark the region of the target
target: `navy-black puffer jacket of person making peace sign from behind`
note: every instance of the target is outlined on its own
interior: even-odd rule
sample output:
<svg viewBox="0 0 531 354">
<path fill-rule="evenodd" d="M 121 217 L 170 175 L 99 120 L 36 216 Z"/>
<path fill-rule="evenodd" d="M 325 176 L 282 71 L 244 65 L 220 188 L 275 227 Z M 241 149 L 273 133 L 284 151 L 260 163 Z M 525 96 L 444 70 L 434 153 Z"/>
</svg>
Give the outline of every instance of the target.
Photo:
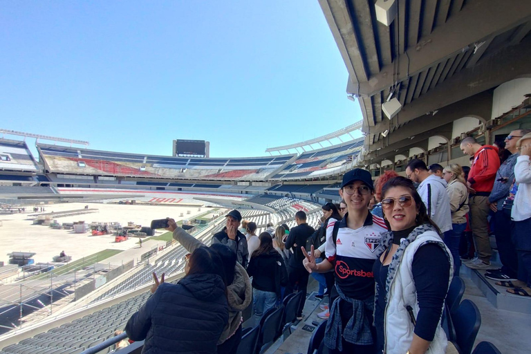
<svg viewBox="0 0 531 354">
<path fill-rule="evenodd" d="M 145 354 L 217 353 L 228 318 L 221 277 L 192 274 L 177 284 L 160 284 L 125 331 L 134 341 L 145 339 Z"/>
</svg>

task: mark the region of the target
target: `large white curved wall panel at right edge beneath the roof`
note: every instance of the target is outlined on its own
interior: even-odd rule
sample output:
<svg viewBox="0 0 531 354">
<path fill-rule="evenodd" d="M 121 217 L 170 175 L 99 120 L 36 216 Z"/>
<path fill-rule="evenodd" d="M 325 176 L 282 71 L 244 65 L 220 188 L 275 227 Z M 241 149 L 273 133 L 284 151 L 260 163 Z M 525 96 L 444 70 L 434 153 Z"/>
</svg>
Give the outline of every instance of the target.
<svg viewBox="0 0 531 354">
<path fill-rule="evenodd" d="M 491 119 L 519 106 L 528 93 L 531 93 L 531 78 L 528 77 L 511 80 L 495 88 Z"/>
</svg>

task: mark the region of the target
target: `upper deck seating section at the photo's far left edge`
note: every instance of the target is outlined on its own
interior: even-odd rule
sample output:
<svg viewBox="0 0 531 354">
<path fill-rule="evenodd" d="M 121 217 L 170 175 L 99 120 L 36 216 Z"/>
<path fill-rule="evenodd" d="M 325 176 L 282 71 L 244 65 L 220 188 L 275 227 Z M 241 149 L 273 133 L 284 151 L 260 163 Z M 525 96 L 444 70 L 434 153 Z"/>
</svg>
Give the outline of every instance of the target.
<svg viewBox="0 0 531 354">
<path fill-rule="evenodd" d="M 0 169 L 6 171 L 39 171 L 39 165 L 24 141 L 0 139 Z"/>
</svg>

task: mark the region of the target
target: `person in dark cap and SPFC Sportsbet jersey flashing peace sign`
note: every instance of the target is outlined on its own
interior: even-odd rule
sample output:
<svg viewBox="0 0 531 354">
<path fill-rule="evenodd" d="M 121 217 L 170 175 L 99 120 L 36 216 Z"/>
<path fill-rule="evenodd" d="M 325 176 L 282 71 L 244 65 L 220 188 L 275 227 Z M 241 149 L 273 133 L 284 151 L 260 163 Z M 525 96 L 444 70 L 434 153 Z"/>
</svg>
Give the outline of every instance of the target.
<svg viewBox="0 0 531 354">
<path fill-rule="evenodd" d="M 343 176 L 339 195 L 347 212 L 341 221 L 328 223 L 326 259 L 315 263 L 313 246 L 303 248 L 308 272 L 335 270 L 335 290 L 330 295 L 330 315 L 324 343 L 330 353 L 373 354 L 374 275 L 373 264 L 382 253 L 384 220 L 369 212 L 374 196 L 372 176 L 364 169 L 353 169 Z M 347 326 L 353 324 L 353 326 Z"/>
</svg>

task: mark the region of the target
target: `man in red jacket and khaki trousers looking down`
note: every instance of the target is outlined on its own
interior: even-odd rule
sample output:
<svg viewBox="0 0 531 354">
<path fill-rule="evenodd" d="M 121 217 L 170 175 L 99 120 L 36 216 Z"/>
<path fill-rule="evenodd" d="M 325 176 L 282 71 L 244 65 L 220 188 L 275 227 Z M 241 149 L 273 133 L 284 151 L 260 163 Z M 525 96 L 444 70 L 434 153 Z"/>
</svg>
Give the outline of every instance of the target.
<svg viewBox="0 0 531 354">
<path fill-rule="evenodd" d="M 473 156 L 467 186 L 470 194 L 470 225 L 478 251 L 478 257 L 466 262 L 465 265 L 472 269 L 488 269 L 492 248 L 490 248 L 487 216 L 490 210 L 490 192 L 494 186 L 496 172 L 500 168 L 498 148 L 492 145 L 480 145 L 470 136 L 463 139 L 460 148 L 465 155 Z"/>
</svg>

